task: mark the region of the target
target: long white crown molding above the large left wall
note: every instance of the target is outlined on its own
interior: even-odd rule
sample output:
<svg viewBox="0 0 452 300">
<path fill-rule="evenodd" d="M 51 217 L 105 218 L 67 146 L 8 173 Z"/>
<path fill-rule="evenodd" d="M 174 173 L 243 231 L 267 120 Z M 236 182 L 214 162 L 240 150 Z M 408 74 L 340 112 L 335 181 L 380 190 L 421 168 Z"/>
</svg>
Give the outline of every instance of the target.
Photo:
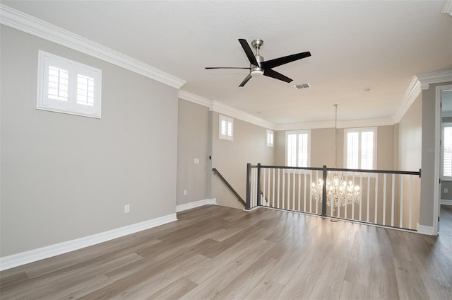
<svg viewBox="0 0 452 300">
<path fill-rule="evenodd" d="M 121 52 L 112 50 L 109 47 L 88 40 L 81 35 L 76 35 L 69 30 L 47 23 L 4 4 L 0 4 L 0 23 L 64 47 L 69 47 L 72 50 L 88 54 L 97 59 L 102 59 L 105 62 L 165 83 L 174 88 L 180 88 L 186 83 L 186 81 L 176 76 L 167 74 Z"/>
</svg>

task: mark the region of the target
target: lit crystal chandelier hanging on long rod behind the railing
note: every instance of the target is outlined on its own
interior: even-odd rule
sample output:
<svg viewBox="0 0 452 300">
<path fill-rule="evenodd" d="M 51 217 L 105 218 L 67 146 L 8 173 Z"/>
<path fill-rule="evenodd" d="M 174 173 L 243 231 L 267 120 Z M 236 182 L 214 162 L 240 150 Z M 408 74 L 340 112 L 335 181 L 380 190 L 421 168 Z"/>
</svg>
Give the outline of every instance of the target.
<svg viewBox="0 0 452 300">
<path fill-rule="evenodd" d="M 334 125 L 334 165 L 336 164 L 336 147 L 338 144 L 336 131 L 338 129 L 338 104 L 335 107 L 335 125 Z M 323 201 L 323 179 L 318 183 L 313 182 L 311 186 L 311 197 L 313 201 Z M 359 185 L 354 185 L 350 180 L 348 183 L 344 180 L 342 172 L 328 171 L 326 176 L 326 204 L 328 207 L 343 207 L 345 204 L 359 203 Z"/>
</svg>

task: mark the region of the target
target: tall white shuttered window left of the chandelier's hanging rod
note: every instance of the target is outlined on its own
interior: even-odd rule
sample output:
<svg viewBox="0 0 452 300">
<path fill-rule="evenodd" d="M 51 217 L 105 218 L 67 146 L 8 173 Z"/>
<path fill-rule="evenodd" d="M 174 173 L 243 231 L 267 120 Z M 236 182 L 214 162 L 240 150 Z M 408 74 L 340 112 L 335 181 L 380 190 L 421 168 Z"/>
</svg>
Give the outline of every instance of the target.
<svg viewBox="0 0 452 300">
<path fill-rule="evenodd" d="M 309 167 L 311 165 L 311 131 L 285 132 L 286 165 Z"/>
</svg>

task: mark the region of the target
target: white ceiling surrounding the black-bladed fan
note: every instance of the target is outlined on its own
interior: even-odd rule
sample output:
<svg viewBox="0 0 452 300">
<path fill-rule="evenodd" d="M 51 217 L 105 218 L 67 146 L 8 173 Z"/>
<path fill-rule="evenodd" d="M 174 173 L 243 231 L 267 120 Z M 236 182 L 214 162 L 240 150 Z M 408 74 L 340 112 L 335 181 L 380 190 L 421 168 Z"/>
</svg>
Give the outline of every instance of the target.
<svg viewBox="0 0 452 300">
<path fill-rule="evenodd" d="M 186 81 L 182 90 L 285 125 L 391 117 L 415 74 L 452 69 L 444 1 L 1 1 Z M 265 41 L 266 59 L 310 51 L 276 67 L 249 67 L 237 39 Z M 311 88 L 296 90 L 295 84 Z M 369 92 L 364 90 L 369 88 Z"/>
</svg>

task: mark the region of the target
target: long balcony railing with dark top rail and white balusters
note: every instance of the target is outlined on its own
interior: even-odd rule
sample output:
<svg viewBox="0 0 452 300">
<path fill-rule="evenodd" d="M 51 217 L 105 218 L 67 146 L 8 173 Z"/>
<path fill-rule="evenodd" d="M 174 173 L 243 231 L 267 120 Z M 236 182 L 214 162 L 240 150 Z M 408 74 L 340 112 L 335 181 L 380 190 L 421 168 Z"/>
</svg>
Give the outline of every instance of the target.
<svg viewBox="0 0 452 300">
<path fill-rule="evenodd" d="M 333 190 L 326 190 L 328 174 L 332 173 L 338 173 L 345 183 L 359 187 L 359 193 L 345 193 L 341 197 L 345 205 L 336 207 L 338 201 L 331 200 Z M 246 209 L 272 207 L 415 231 L 419 218 L 420 177 L 421 171 L 300 168 L 260 163 L 251 166 L 248 163 Z"/>
</svg>

